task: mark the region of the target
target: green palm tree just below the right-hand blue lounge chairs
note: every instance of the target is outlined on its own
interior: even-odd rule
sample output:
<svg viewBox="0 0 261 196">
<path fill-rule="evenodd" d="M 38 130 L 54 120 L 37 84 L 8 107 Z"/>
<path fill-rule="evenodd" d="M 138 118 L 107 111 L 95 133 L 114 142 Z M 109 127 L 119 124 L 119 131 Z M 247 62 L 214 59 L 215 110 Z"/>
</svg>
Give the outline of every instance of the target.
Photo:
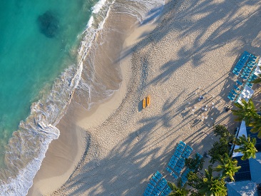
<svg viewBox="0 0 261 196">
<path fill-rule="evenodd" d="M 255 109 L 255 105 L 251 98 L 248 100 L 248 103 L 244 99 L 242 99 L 241 102 L 242 105 L 240 103 L 235 103 L 238 110 L 232 110 L 232 113 L 233 115 L 237 115 L 236 121 L 245 120 L 245 124 L 249 125 L 252 118 L 255 118 L 258 115 L 257 110 Z"/>
</svg>

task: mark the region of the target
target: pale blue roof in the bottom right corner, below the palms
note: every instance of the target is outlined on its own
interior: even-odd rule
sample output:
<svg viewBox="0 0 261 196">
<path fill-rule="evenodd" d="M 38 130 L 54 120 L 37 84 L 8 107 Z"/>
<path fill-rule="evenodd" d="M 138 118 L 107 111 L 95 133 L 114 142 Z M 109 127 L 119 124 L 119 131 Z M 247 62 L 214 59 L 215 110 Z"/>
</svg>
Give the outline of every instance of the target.
<svg viewBox="0 0 261 196">
<path fill-rule="evenodd" d="M 257 196 L 257 184 L 250 180 L 227 182 L 228 196 Z"/>
</svg>

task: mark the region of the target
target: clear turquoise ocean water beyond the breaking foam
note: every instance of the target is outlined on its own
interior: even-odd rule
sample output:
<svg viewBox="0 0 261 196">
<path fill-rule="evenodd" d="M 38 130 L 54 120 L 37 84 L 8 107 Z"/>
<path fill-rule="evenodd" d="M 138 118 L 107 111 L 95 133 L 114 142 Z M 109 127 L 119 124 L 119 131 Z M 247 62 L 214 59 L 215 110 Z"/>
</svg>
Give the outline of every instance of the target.
<svg viewBox="0 0 261 196">
<path fill-rule="evenodd" d="M 4 146 L 30 113 L 32 102 L 48 93 L 59 74 L 76 63 L 77 36 L 95 1 L 0 1 L 0 163 Z M 56 21 L 54 36 L 41 32 L 39 16 Z M 49 23 L 49 24 L 48 24 Z M 48 27 L 46 27 L 48 29 Z M 1 164 L 0 164 L 1 165 Z"/>
</svg>

